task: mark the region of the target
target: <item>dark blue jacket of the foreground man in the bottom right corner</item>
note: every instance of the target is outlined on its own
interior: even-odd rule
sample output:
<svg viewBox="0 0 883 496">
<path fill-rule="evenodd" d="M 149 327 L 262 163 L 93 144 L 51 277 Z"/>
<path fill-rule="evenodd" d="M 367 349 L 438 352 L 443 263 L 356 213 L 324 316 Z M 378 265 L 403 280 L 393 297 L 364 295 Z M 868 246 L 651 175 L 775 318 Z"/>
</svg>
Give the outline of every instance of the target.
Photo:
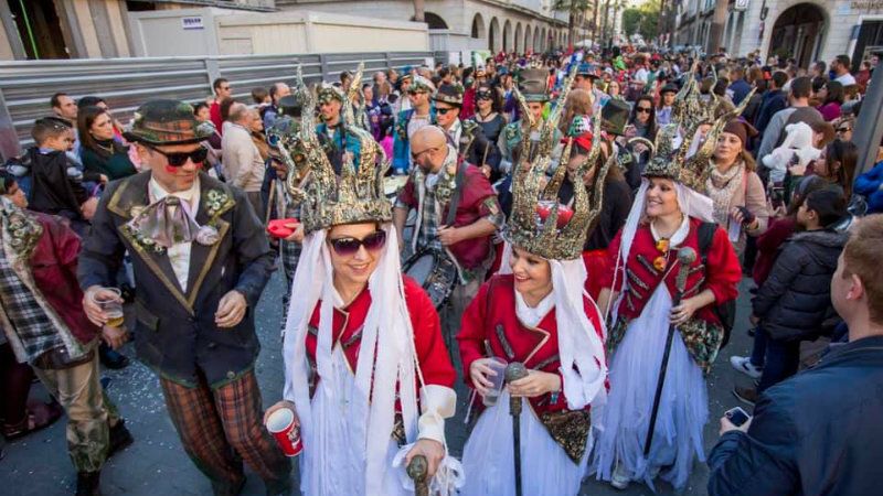
<svg viewBox="0 0 883 496">
<path fill-rule="evenodd" d="M 711 496 L 871 496 L 883 490 L 883 336 L 833 347 L 760 395 L 748 433 L 709 456 Z"/>
</svg>

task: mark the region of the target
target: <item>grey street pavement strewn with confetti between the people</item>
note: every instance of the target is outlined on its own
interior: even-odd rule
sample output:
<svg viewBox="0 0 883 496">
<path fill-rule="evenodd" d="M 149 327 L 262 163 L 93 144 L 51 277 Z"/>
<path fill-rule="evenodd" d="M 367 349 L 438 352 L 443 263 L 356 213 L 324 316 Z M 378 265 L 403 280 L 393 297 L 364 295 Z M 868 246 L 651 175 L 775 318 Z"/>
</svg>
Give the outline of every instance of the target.
<svg viewBox="0 0 883 496">
<path fill-rule="evenodd" d="M 742 296 L 738 301 L 736 328 L 732 342 L 717 357 L 708 377 L 711 405 L 710 421 L 705 427 L 706 453 L 717 440 L 717 419 L 725 410 L 737 405 L 731 393 L 734 384 L 751 384 L 747 377 L 733 370 L 728 359 L 731 355 L 746 354 L 751 347 L 751 338 L 745 333 L 748 327 L 748 279 L 745 279 L 741 288 Z M 277 272 L 267 285 L 256 312 L 257 332 L 263 344 L 256 369 L 265 407 L 269 407 L 281 397 L 284 378 L 279 321 L 283 291 L 284 278 Z M 131 344 L 126 345 L 124 353 L 130 358 L 135 357 Z M 102 493 L 106 496 L 211 495 L 209 481 L 196 470 L 181 448 L 166 412 L 156 375 L 132 359 L 132 365 L 126 369 L 107 370 L 104 376 L 111 380 L 108 393 L 126 418 L 126 425 L 135 436 L 135 443 L 108 461 L 102 473 Z M 459 381 L 457 392 L 459 397 L 457 418 L 447 422 L 447 435 L 451 451 L 459 456 L 467 434 L 462 416 L 466 412 L 465 403 L 468 398 L 466 388 Z M 35 385 L 32 395 L 45 397 L 45 391 Z M 6 457 L 0 461 L 0 481 L 2 481 L 0 495 L 73 494 L 76 474 L 67 457 L 64 420 L 62 418 L 41 432 L 6 444 Z M 305 449 L 309 450 L 309 446 Z M 530 457 L 524 460 L 524 464 L 525 470 L 530 470 Z M 246 475 L 247 482 L 243 494 L 265 494 L 259 477 L 247 467 Z M 689 484 L 681 494 L 706 494 L 708 475 L 706 465 L 698 461 Z M 660 495 L 673 494 L 672 488 L 664 483 L 658 483 L 657 490 Z M 587 479 L 579 494 L 650 496 L 653 493 L 640 484 L 632 484 L 627 490 L 617 490 L 608 484 Z"/>
</svg>

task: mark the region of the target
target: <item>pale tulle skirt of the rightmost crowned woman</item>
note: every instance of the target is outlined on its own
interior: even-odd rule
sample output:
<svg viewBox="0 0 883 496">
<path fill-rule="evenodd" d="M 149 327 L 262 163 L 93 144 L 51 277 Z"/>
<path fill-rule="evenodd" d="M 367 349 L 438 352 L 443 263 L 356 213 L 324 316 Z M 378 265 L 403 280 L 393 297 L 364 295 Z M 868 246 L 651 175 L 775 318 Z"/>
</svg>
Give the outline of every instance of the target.
<svg viewBox="0 0 883 496">
<path fill-rule="evenodd" d="M 681 488 L 694 456 L 705 461 L 702 429 L 709 420 L 708 389 L 679 332 L 671 344 L 650 454 L 643 457 L 671 305 L 668 288 L 660 284 L 640 316 L 628 324 L 613 355 L 610 393 L 592 463 L 599 479 L 609 481 L 618 462 L 632 479 L 651 488 L 651 475 L 659 470 L 662 479 Z"/>
</svg>

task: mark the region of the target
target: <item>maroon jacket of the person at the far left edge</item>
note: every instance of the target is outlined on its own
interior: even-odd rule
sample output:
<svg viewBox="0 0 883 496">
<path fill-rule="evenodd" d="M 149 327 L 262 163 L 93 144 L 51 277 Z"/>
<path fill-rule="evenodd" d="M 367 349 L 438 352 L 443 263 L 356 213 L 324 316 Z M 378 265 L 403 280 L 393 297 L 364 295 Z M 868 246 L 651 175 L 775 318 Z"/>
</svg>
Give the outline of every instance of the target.
<svg viewBox="0 0 883 496">
<path fill-rule="evenodd" d="M 43 226 L 43 236 L 31 254 L 31 272 L 36 288 L 67 324 L 81 344 L 88 344 L 100 330 L 83 311 L 83 291 L 76 280 L 79 237 L 53 215 L 29 212 Z"/>
</svg>

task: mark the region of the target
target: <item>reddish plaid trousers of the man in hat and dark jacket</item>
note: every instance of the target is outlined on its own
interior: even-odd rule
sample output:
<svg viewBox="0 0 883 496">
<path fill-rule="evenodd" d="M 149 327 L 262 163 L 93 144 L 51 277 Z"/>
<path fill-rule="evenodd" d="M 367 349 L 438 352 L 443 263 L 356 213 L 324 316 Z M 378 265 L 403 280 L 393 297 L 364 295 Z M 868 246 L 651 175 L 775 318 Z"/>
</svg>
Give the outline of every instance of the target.
<svg viewBox="0 0 883 496">
<path fill-rule="evenodd" d="M 166 407 L 184 451 L 217 496 L 234 496 L 245 479 L 243 460 L 263 479 L 268 495 L 289 494 L 291 463 L 263 423 L 260 389 L 253 370 L 211 389 L 160 378 Z"/>
</svg>

